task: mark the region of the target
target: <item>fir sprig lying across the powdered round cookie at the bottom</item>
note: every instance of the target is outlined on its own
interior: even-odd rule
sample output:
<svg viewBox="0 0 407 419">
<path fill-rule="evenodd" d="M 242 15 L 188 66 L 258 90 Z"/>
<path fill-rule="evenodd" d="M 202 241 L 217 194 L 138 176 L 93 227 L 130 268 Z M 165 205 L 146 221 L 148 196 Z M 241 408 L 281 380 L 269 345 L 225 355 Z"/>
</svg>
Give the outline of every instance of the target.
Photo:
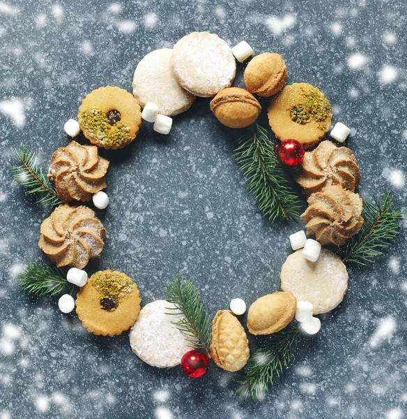
<svg viewBox="0 0 407 419">
<path fill-rule="evenodd" d="M 183 314 L 183 317 L 174 322 L 185 338 L 190 341 L 191 347 L 202 348 L 210 358 L 210 339 L 212 328 L 203 305 L 199 300 L 199 291 L 191 279 L 184 279 L 178 275 L 164 282 L 167 290 L 167 301 L 175 305 L 169 309 L 169 314 Z"/>
</svg>

